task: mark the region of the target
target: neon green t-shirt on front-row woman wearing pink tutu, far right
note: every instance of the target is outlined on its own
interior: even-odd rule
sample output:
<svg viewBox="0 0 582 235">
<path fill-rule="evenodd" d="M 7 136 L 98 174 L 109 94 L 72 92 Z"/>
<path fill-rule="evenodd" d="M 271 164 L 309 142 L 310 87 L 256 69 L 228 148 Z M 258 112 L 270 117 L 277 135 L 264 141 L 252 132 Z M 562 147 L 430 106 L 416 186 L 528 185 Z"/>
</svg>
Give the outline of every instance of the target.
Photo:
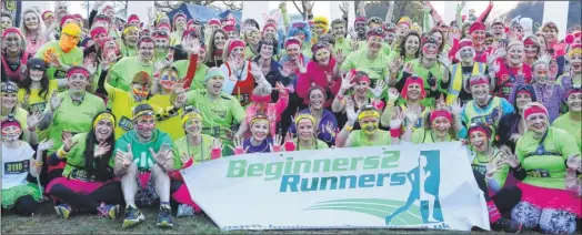
<svg viewBox="0 0 582 235">
<path fill-rule="evenodd" d="M 545 152 L 539 153 L 540 141 L 533 137 L 533 131 L 528 131 L 515 144 L 515 155 L 528 172 L 522 182 L 539 187 L 564 190 L 564 162 L 569 156 L 580 154 L 580 150 L 568 132 L 553 126 L 548 129 L 542 144 Z"/>
</svg>

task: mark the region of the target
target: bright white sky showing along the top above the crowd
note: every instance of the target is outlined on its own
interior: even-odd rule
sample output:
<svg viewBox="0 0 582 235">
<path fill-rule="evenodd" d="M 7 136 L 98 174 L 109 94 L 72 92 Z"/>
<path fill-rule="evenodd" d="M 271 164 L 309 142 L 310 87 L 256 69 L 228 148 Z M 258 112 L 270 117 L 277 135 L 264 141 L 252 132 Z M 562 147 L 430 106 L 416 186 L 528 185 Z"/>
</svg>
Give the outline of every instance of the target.
<svg viewBox="0 0 582 235">
<path fill-rule="evenodd" d="M 90 1 L 90 2 L 92 4 L 93 1 Z M 78 12 L 81 16 L 83 16 L 84 18 L 88 17 L 87 10 L 82 8 L 83 1 L 70 1 L 69 3 L 70 3 L 69 9 L 71 12 Z M 315 2 L 315 6 L 313 7 L 314 8 L 313 11 L 318 12 L 318 9 L 320 11 L 323 11 L 323 9 L 327 9 L 327 4 L 322 4 L 322 3 L 323 2 Z M 439 13 L 442 16 L 443 12 L 441 12 L 441 10 L 439 9 L 444 9 L 445 2 L 444 1 L 431 1 L 431 3 L 434 6 L 434 8 L 436 8 L 436 11 L 439 11 Z M 494 7 L 491 12 L 491 17 L 498 17 L 502 13 L 505 13 L 506 11 L 513 9 L 513 7 L 515 7 L 518 3 L 519 1 L 493 1 Z M 480 13 L 482 10 L 486 8 L 488 4 L 489 4 L 488 1 L 466 1 L 465 11 L 468 11 L 469 9 L 475 9 L 476 12 Z M 275 9 L 278 8 L 278 6 L 279 6 L 279 1 L 269 1 L 269 9 Z M 291 12 L 297 12 L 293 3 L 288 3 L 288 9 Z"/>
</svg>

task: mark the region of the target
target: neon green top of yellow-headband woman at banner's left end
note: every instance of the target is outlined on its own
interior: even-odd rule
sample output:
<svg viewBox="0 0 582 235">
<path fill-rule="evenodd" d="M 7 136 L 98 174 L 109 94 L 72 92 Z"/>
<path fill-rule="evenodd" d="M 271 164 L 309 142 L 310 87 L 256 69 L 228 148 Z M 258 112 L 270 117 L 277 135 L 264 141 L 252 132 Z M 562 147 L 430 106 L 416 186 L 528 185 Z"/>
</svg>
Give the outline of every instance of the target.
<svg viewBox="0 0 582 235">
<path fill-rule="evenodd" d="M 188 156 L 194 156 L 193 165 L 195 165 L 210 161 L 212 159 L 211 151 L 212 142 L 214 142 L 214 140 L 217 139 L 210 135 L 202 134 L 202 144 L 200 146 L 189 144 L 188 136 L 180 137 L 175 140 L 173 143 L 175 145 L 177 153 L 180 154 L 180 156 L 182 156 L 182 154 L 187 154 Z M 183 162 L 177 161 L 174 162 L 174 168 L 182 168 L 183 164 Z"/>
</svg>

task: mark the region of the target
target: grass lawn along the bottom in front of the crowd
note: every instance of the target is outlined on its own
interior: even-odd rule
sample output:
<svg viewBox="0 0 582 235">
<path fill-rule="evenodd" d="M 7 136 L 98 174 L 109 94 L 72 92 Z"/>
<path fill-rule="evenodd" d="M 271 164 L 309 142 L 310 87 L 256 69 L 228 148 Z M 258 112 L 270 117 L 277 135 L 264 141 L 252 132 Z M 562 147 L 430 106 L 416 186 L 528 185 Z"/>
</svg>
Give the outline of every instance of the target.
<svg viewBox="0 0 582 235">
<path fill-rule="evenodd" d="M 50 203 L 44 203 L 41 210 L 31 217 L 22 217 L 12 213 L 2 214 L 1 234 L 460 234 L 461 232 L 444 231 L 403 231 L 403 229 L 319 229 L 319 231 L 232 231 L 221 232 L 205 215 L 195 217 L 173 218 L 174 227 L 160 229 L 155 226 L 158 219 L 157 206 L 142 208 L 146 222 L 132 228 L 122 228 L 123 214 L 118 219 L 110 219 L 89 214 L 72 214 L 69 219 L 58 217 Z M 485 232 L 476 232 L 485 233 Z"/>
</svg>

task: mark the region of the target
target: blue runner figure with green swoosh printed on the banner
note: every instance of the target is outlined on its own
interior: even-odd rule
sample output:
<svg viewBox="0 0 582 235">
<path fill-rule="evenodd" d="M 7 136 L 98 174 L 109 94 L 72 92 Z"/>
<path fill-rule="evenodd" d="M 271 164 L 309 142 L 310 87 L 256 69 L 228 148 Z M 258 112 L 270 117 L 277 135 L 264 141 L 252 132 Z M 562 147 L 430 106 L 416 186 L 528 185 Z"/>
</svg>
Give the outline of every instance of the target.
<svg viewBox="0 0 582 235">
<path fill-rule="evenodd" d="M 333 210 L 363 213 L 379 217 L 387 226 L 407 226 L 444 222 L 439 202 L 440 152 L 421 151 L 419 165 L 410 170 L 407 183 L 411 184 L 408 200 L 347 198 L 318 202 L 307 210 Z M 446 228 L 446 224 L 434 228 Z"/>
</svg>

